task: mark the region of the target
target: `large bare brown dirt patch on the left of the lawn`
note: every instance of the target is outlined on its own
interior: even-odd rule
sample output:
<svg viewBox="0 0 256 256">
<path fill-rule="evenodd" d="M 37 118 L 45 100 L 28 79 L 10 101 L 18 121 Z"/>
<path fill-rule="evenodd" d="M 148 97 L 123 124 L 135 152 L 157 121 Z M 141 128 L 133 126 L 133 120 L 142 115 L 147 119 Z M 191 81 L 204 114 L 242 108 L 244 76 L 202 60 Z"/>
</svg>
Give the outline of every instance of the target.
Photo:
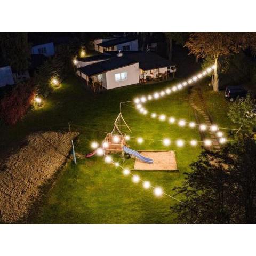
<svg viewBox="0 0 256 256">
<path fill-rule="evenodd" d="M 41 187 L 65 163 L 70 140 L 78 133 L 40 132 L 0 162 L 0 216 L 4 223 L 19 222 L 39 198 Z"/>
</svg>

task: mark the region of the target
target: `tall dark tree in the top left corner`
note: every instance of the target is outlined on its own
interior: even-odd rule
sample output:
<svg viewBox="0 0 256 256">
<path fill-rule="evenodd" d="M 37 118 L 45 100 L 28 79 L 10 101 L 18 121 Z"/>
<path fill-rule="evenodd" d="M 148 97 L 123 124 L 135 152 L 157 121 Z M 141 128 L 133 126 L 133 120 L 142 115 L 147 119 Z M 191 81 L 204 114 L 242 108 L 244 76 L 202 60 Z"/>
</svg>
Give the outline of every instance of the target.
<svg viewBox="0 0 256 256">
<path fill-rule="evenodd" d="M 14 70 L 27 70 L 30 57 L 27 33 L 0 33 L 0 52 Z"/>
</svg>

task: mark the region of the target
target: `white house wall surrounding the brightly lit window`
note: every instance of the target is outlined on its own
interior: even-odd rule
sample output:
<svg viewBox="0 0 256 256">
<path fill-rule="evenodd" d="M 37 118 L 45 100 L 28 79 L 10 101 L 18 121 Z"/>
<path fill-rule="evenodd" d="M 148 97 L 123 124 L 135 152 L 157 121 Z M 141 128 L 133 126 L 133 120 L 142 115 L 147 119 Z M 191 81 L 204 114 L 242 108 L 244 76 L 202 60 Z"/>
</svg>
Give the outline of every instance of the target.
<svg viewBox="0 0 256 256">
<path fill-rule="evenodd" d="M 122 72 L 127 72 L 127 80 L 116 82 L 115 74 L 122 73 Z M 140 76 L 139 63 L 134 63 L 129 66 L 117 68 L 117 69 L 106 72 L 106 84 L 104 83 L 105 79 L 103 76 L 103 87 L 105 87 L 106 89 L 114 89 L 114 88 L 122 87 L 126 85 L 137 84 L 139 83 L 139 76 Z"/>
</svg>

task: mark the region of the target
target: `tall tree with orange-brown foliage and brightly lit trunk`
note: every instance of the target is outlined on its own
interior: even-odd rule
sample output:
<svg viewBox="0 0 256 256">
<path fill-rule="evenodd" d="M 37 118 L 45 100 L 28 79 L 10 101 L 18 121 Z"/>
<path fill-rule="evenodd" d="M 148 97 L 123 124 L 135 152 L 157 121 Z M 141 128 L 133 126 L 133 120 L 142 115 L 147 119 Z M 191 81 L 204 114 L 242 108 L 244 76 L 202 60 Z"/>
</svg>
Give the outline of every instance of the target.
<svg viewBox="0 0 256 256">
<path fill-rule="evenodd" d="M 192 33 L 185 46 L 197 58 L 211 58 L 214 60 L 213 90 L 219 90 L 219 74 L 221 58 L 238 53 L 249 45 L 255 44 L 254 33 Z"/>
</svg>

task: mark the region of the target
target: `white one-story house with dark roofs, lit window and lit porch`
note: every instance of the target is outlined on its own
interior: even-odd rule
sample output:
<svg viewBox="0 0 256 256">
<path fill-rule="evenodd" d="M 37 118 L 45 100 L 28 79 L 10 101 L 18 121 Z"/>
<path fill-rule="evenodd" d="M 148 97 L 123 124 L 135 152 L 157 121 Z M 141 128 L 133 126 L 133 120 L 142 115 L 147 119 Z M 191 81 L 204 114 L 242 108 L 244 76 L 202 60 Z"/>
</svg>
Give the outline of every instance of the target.
<svg viewBox="0 0 256 256">
<path fill-rule="evenodd" d="M 99 84 L 108 90 L 153 79 L 167 79 L 170 67 L 174 68 L 175 64 L 153 52 L 113 51 L 78 59 L 77 75 L 87 85 L 92 84 L 93 89 Z"/>
</svg>

